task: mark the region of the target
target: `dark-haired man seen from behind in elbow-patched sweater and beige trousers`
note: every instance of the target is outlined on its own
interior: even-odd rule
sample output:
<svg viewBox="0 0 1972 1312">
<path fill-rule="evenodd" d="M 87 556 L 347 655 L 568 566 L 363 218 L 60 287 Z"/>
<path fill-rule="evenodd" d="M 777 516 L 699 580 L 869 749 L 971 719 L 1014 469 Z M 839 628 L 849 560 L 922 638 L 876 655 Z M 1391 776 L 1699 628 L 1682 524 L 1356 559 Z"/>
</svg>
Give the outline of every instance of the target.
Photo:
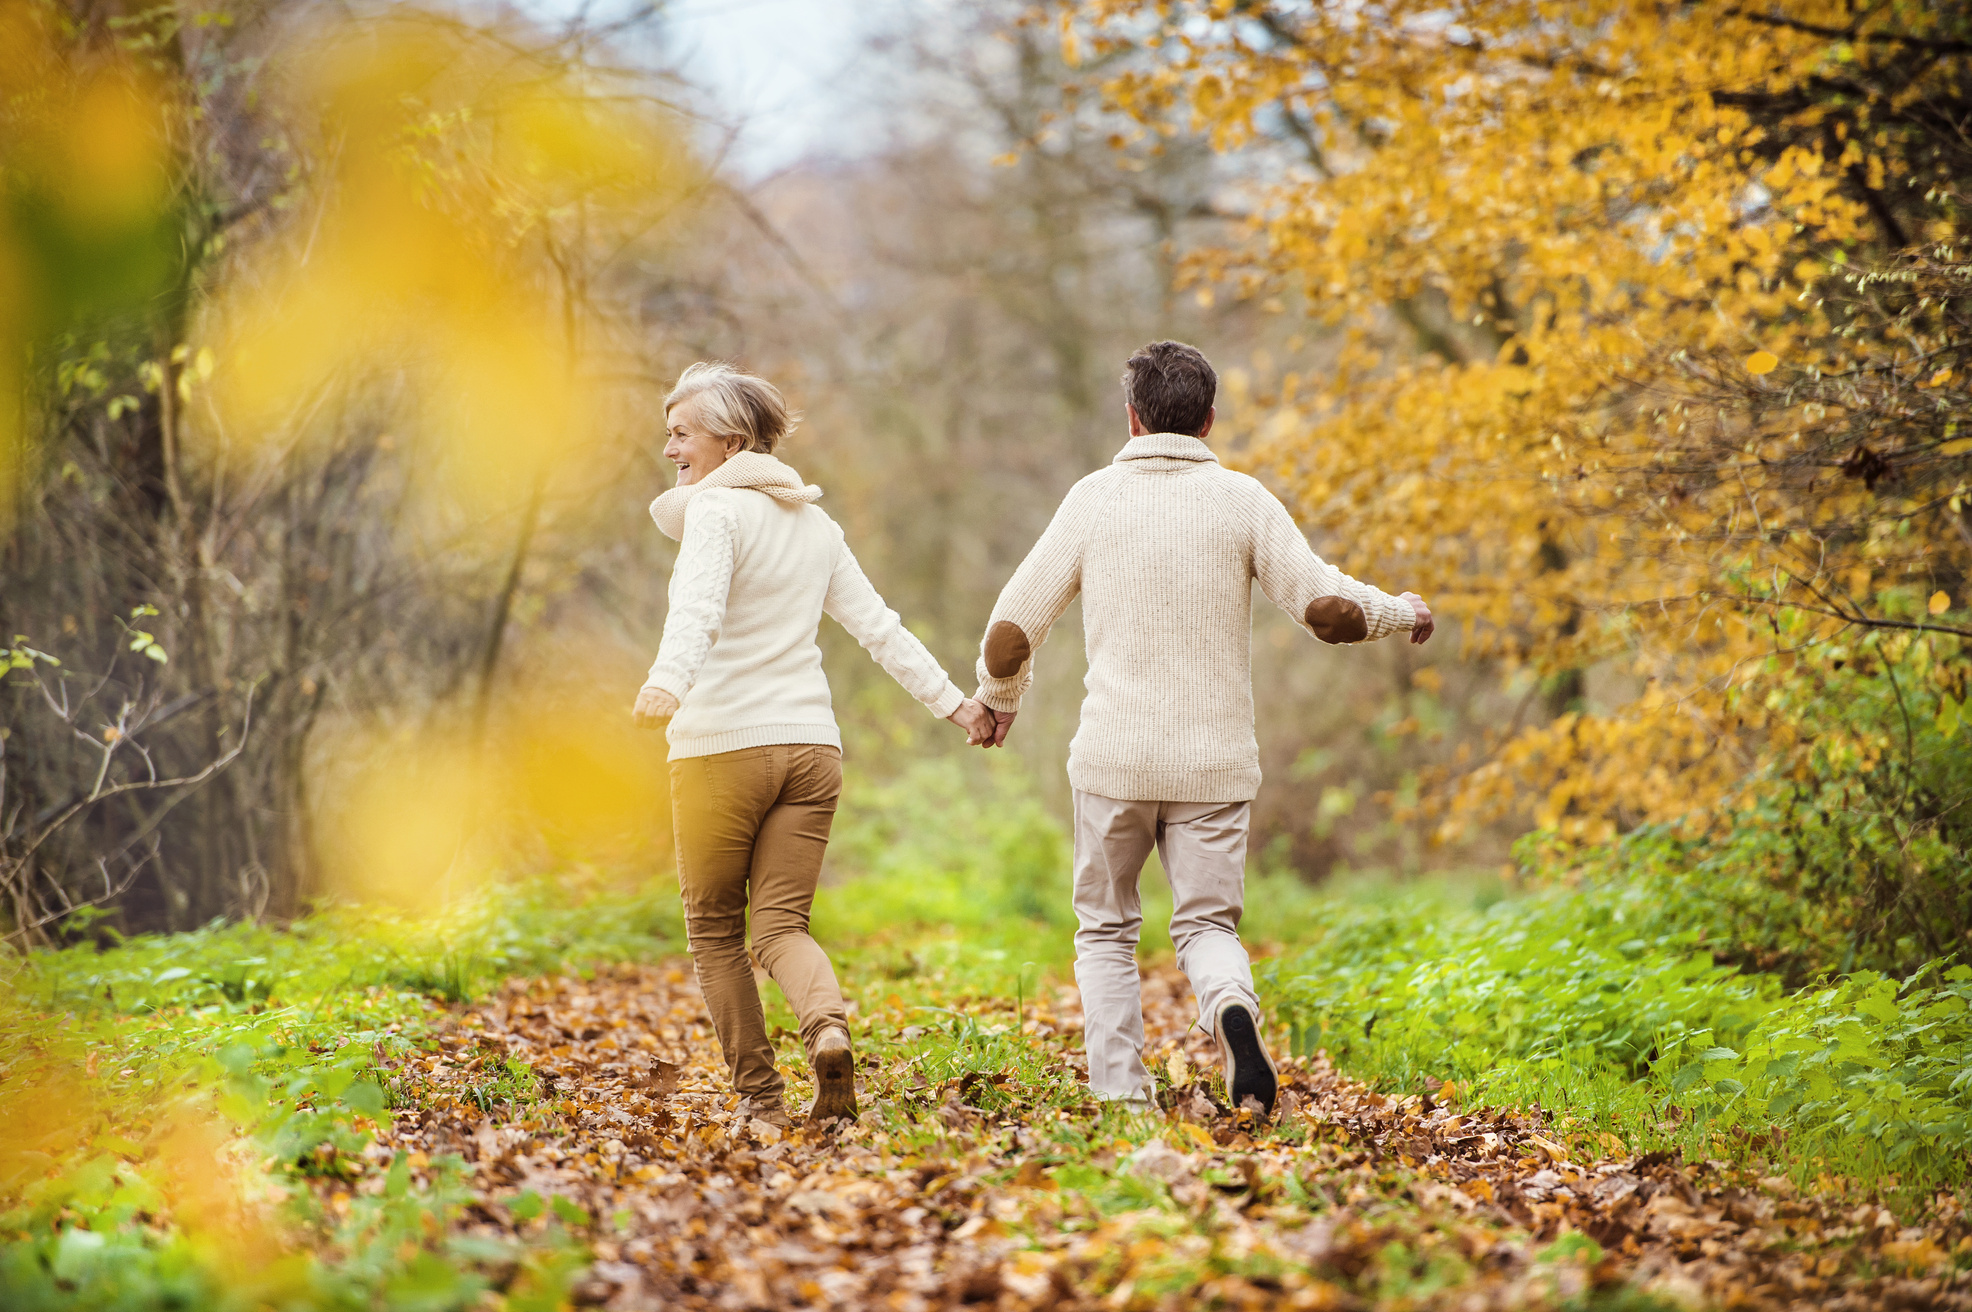
<svg viewBox="0 0 1972 1312">
<path fill-rule="evenodd" d="M 1075 789 L 1075 981 L 1098 1099 L 1148 1109 L 1144 925 L 1152 846 L 1171 880 L 1171 943 L 1219 1038 L 1234 1107 L 1272 1115 L 1252 967 L 1238 941 L 1246 829 L 1260 789 L 1252 732 L 1252 584 L 1325 643 L 1432 635 L 1406 592 L 1359 584 L 1307 548 L 1286 507 L 1205 446 L 1219 379 L 1197 347 L 1154 341 L 1122 379 L 1130 442 L 1075 483 L 1008 580 L 980 643 L 980 691 L 1006 742 L 1033 651 L 1083 594 L 1089 696 L 1069 744 Z"/>
</svg>

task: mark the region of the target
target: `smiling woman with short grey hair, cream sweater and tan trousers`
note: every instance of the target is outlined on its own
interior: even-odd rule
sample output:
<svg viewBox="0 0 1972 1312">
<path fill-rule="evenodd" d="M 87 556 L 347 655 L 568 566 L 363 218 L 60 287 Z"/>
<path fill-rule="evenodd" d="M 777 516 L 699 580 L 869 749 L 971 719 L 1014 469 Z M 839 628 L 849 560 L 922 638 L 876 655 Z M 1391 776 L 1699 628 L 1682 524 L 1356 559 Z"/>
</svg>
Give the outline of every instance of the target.
<svg viewBox="0 0 1972 1312">
<path fill-rule="evenodd" d="M 678 886 L 692 965 L 734 1089 L 787 1127 L 753 953 L 801 1020 L 814 1071 L 809 1123 L 856 1115 L 842 990 L 809 937 L 809 911 L 842 793 L 836 730 L 814 633 L 824 614 L 856 635 L 931 714 L 992 738 L 994 718 L 883 606 L 842 529 L 773 454 L 793 420 L 765 379 L 698 363 L 665 397 L 665 456 L 678 485 L 651 503 L 680 543 L 670 614 L 637 692 L 639 728 L 669 722 Z"/>
</svg>

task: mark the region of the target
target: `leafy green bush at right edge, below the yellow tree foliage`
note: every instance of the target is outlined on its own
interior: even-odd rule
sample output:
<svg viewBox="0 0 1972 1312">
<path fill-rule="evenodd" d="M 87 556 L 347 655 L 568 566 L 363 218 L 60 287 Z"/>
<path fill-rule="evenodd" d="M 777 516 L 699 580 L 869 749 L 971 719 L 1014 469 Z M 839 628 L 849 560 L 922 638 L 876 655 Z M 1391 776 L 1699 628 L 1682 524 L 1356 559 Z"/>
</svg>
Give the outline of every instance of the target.
<svg viewBox="0 0 1972 1312">
<path fill-rule="evenodd" d="M 1913 608 L 1913 616 L 1921 616 Z M 1793 633 L 1789 633 L 1793 637 Z M 1808 645 L 1769 710 L 1810 736 L 1731 805 L 1587 850 L 1522 838 L 1546 880 L 1623 884 L 1653 933 L 1696 931 L 1720 961 L 1800 988 L 1907 977 L 1972 941 L 1972 750 L 1964 641 L 1864 635 Z"/>
</svg>

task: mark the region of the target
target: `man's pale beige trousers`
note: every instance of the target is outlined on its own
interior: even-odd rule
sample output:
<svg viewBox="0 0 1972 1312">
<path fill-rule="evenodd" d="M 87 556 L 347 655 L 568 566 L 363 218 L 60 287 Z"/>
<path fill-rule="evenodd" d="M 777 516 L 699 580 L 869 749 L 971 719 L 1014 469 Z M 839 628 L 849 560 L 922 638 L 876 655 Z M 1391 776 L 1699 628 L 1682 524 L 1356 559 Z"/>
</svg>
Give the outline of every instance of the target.
<svg viewBox="0 0 1972 1312">
<path fill-rule="evenodd" d="M 1240 1002 L 1254 1018 L 1252 963 L 1238 941 L 1246 910 L 1252 803 L 1116 801 L 1075 789 L 1075 984 L 1083 990 L 1089 1089 L 1100 1099 L 1152 1097 L 1144 1069 L 1144 931 L 1138 876 L 1158 848 L 1171 880 L 1171 945 L 1207 1034 Z"/>
</svg>

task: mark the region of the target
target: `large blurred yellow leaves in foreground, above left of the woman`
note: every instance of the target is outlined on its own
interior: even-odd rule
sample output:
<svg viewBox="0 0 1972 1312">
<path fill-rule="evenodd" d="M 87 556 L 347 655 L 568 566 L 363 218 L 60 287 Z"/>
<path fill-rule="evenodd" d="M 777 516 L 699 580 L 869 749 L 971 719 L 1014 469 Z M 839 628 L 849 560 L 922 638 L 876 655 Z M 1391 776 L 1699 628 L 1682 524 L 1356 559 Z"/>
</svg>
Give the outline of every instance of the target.
<svg viewBox="0 0 1972 1312">
<path fill-rule="evenodd" d="M 672 124 L 418 12 L 331 24 L 284 71 L 325 176 L 302 239 L 243 260 L 219 298 L 217 432 L 288 440 L 337 385 L 402 375 L 473 509 L 580 468 L 596 343 L 568 247 L 649 229 L 690 185 Z"/>
</svg>

